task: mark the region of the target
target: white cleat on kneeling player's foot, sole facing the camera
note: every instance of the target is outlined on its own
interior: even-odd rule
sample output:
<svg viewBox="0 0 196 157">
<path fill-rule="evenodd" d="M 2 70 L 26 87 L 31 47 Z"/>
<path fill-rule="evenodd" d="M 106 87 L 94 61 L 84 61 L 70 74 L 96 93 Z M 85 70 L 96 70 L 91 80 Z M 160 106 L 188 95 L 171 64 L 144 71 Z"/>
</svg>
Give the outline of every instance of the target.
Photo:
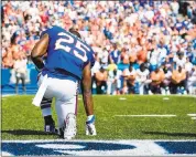
<svg viewBox="0 0 196 157">
<path fill-rule="evenodd" d="M 73 139 L 75 138 L 77 133 L 77 128 L 76 128 L 76 115 L 69 113 L 66 117 L 65 121 L 65 127 L 64 127 L 64 139 Z"/>
</svg>

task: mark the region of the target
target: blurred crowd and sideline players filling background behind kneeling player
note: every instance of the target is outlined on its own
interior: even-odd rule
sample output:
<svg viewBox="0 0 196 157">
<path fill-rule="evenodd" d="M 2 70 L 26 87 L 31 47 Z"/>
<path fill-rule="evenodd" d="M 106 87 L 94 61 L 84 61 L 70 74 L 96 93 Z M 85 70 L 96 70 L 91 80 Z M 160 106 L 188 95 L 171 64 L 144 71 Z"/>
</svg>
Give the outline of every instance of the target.
<svg viewBox="0 0 196 157">
<path fill-rule="evenodd" d="M 194 93 L 195 1 L 2 1 L 1 14 L 2 69 L 20 76 L 41 32 L 61 25 L 96 53 L 95 94 Z"/>
</svg>

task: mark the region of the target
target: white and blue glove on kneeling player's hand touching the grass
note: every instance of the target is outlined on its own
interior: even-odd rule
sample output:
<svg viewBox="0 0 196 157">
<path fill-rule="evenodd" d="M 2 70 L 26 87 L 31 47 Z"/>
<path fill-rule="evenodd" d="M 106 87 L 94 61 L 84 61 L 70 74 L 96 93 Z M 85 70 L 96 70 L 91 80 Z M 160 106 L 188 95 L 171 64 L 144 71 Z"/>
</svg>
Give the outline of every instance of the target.
<svg viewBox="0 0 196 157">
<path fill-rule="evenodd" d="M 86 135 L 91 135 L 91 136 L 97 135 L 96 127 L 95 127 L 95 115 L 90 115 L 87 117 Z"/>
</svg>

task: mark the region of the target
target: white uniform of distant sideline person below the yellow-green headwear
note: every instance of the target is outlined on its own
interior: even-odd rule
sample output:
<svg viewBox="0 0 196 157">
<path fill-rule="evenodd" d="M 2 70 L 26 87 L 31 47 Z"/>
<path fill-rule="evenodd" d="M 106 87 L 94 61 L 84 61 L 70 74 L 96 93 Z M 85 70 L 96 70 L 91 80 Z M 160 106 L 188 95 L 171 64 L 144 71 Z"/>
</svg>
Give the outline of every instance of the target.
<svg viewBox="0 0 196 157">
<path fill-rule="evenodd" d="M 107 94 L 117 94 L 117 88 L 121 87 L 121 75 L 122 71 L 117 70 L 117 74 L 115 75 L 113 71 L 109 71 L 108 81 L 107 81 Z"/>
</svg>

